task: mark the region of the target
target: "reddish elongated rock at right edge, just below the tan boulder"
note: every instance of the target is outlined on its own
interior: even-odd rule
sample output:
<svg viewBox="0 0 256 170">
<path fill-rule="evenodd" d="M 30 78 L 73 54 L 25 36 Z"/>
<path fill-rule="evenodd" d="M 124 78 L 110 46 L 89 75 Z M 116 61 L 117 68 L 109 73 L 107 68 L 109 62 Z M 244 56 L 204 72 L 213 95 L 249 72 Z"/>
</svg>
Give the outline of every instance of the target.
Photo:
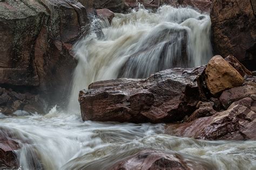
<svg viewBox="0 0 256 170">
<path fill-rule="evenodd" d="M 223 91 L 220 96 L 220 102 L 223 107 L 227 109 L 231 103 L 239 101 L 245 97 L 250 97 L 253 94 L 256 94 L 256 88 L 254 88 L 253 86 L 235 87 Z"/>
</svg>

